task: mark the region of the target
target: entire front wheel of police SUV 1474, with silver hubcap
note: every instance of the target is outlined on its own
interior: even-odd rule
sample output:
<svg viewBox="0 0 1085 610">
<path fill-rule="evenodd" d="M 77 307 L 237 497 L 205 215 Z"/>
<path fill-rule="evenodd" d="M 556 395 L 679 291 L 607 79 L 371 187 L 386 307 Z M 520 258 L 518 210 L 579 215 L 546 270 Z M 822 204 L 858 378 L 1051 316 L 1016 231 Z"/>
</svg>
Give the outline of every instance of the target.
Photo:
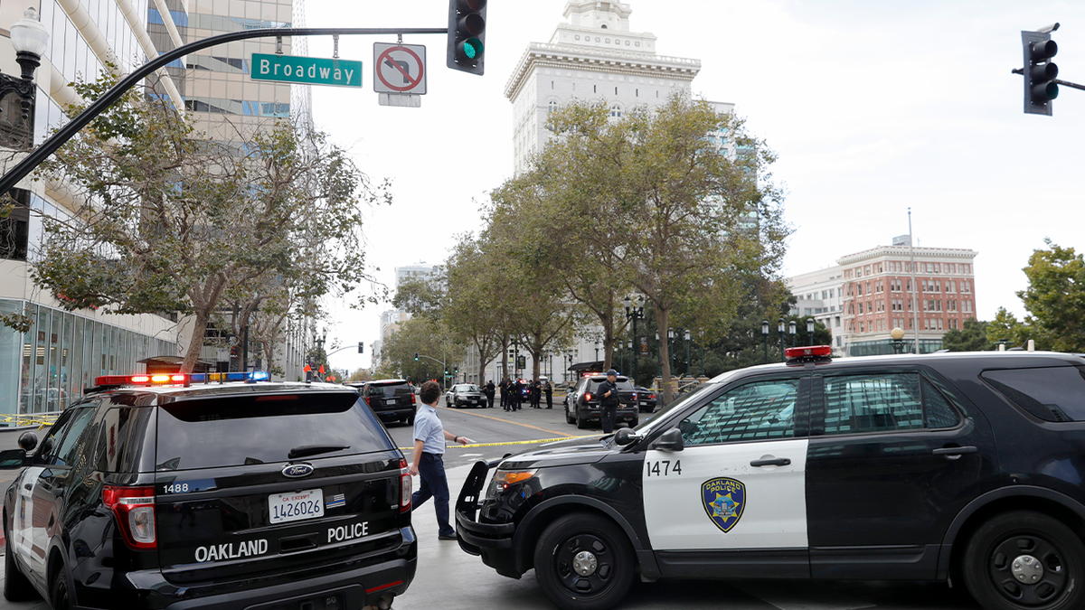
<svg viewBox="0 0 1085 610">
<path fill-rule="evenodd" d="M 633 547 L 617 525 L 585 513 L 551 523 L 535 545 L 539 588 L 564 610 L 604 610 L 633 583 Z"/>
</svg>

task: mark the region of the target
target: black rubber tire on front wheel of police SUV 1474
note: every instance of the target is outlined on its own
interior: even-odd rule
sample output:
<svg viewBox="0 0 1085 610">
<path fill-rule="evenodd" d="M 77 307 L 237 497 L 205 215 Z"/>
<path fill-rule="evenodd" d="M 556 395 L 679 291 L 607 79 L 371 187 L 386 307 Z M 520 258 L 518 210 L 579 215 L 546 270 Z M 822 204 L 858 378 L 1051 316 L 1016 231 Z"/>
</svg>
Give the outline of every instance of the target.
<svg viewBox="0 0 1085 610">
<path fill-rule="evenodd" d="M 597 560 L 599 570 L 611 569 L 609 581 L 601 590 L 585 596 L 566 587 L 560 576 L 559 552 L 578 536 L 598 539 L 604 550 Z M 604 518 L 574 512 L 559 518 L 539 536 L 535 545 L 535 580 L 542 594 L 563 610 L 605 610 L 616 606 L 633 584 L 633 546 L 616 524 Z"/>
</svg>

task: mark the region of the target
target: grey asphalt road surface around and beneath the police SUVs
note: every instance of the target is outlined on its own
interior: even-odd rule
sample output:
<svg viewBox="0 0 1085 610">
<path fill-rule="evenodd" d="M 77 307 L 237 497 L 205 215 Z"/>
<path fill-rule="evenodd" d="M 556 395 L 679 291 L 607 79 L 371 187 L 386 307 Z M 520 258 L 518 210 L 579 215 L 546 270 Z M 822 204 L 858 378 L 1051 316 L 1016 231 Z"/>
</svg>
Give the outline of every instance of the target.
<svg viewBox="0 0 1085 610">
<path fill-rule="evenodd" d="M 538 446 L 524 443 L 599 433 L 567 424 L 556 402 L 552 410 L 526 408 L 505 412 L 493 409 L 438 408 L 445 429 L 465 435 L 483 446 L 449 447 L 445 463 L 452 499 L 478 459 L 494 459 Z M 643 416 L 642 416 L 643 417 Z M 411 427 L 392 424 L 388 432 L 410 459 Z M 500 444 L 499 444 L 500 443 Z M 516 443 L 516 444 L 505 444 Z M 541 595 L 535 573 L 521 580 L 498 575 L 460 550 L 455 542 L 437 539 L 432 503 L 413 516 L 419 535 L 418 575 L 407 594 L 396 599 L 396 610 L 497 609 L 553 610 Z M 0 571 L 2 572 L 2 571 Z M 2 580 L 2 573 L 0 573 Z M 42 601 L 11 603 L 0 598 L 0 610 L 44 610 Z M 975 610 L 979 608 L 961 587 L 944 583 L 869 583 L 808 581 L 660 581 L 634 583 L 620 606 L 622 610 Z"/>
</svg>

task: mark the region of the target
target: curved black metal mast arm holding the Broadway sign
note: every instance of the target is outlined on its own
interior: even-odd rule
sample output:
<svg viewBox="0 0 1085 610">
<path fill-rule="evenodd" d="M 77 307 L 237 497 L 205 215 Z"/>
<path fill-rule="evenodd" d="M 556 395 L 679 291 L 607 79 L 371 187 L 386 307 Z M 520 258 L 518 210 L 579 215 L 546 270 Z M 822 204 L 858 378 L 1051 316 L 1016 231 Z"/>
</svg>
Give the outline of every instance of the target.
<svg viewBox="0 0 1085 610">
<path fill-rule="evenodd" d="M 405 28 L 392 28 L 392 27 L 278 27 L 278 28 L 267 28 L 267 29 L 248 29 L 243 31 L 231 31 L 229 34 L 220 34 L 218 36 L 212 36 L 210 38 L 204 38 L 203 40 L 196 40 L 195 42 L 189 42 L 178 47 L 171 51 L 163 53 L 157 58 L 149 61 L 142 66 L 136 68 L 135 72 L 126 76 L 120 82 L 113 86 L 112 89 L 106 91 L 101 98 L 94 100 L 86 110 L 79 113 L 77 116 L 73 117 L 64 127 L 61 127 L 56 134 L 51 138 L 41 142 L 41 145 L 34 149 L 27 154 L 23 161 L 18 162 L 14 167 L 12 167 L 3 177 L 0 177 L 0 193 L 7 193 L 20 180 L 25 178 L 30 171 L 34 171 L 49 155 L 56 152 L 56 149 L 64 145 L 65 142 L 71 140 L 80 129 L 90 124 L 95 116 L 107 109 L 113 102 L 120 99 L 120 97 L 133 86 L 136 86 L 140 80 L 143 80 L 150 76 L 154 71 L 159 67 L 165 66 L 174 60 L 181 59 L 182 56 L 192 53 L 193 51 L 199 51 L 201 49 L 206 49 L 208 47 L 215 47 L 216 45 L 222 45 L 224 42 L 233 42 L 234 40 L 247 40 L 250 38 L 272 38 L 281 36 L 362 36 L 362 35 L 403 35 L 403 34 L 448 34 L 448 28 L 445 27 L 405 27 Z"/>
</svg>

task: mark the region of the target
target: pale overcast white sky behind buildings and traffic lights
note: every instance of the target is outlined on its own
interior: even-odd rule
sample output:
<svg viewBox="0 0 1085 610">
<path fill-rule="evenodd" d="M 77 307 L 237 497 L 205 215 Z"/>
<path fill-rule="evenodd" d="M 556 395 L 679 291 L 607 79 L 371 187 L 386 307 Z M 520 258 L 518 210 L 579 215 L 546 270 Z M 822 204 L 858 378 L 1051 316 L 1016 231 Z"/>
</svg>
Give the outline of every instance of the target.
<svg viewBox="0 0 1085 610">
<path fill-rule="evenodd" d="M 1081 247 L 1085 91 L 1062 87 L 1054 116 L 1022 112 L 1022 29 L 1061 24 L 1059 77 L 1085 82 L 1085 2 L 1058 0 L 630 0 L 630 28 L 658 37 L 661 55 L 701 60 L 694 96 L 733 102 L 778 155 L 787 191 L 784 276 L 889 245 L 961 247 L 975 258 L 978 317 L 1019 317 L 1022 267 L 1045 239 Z M 315 87 L 314 117 L 393 203 L 370 208 L 367 257 L 393 287 L 397 266 L 439 264 L 455 237 L 477 231 L 487 192 L 512 176 L 512 107 L 505 87 L 529 42 L 546 42 L 565 0 L 494 0 L 486 74 L 445 67 L 445 37 L 405 36 L 429 49 L 420 109 L 378 104 L 373 42 L 352 37 L 340 56 L 361 60 L 362 89 Z M 311 27 L 445 27 L 446 0 L 307 0 Z M 330 39 L 309 43 L 331 56 Z M 1075 152 L 1076 151 L 1076 152 Z M 1075 169 L 1076 168 L 1076 169 Z M 372 294 L 362 287 L 360 295 Z M 329 300 L 331 356 L 368 367 L 391 304 Z"/>
</svg>

